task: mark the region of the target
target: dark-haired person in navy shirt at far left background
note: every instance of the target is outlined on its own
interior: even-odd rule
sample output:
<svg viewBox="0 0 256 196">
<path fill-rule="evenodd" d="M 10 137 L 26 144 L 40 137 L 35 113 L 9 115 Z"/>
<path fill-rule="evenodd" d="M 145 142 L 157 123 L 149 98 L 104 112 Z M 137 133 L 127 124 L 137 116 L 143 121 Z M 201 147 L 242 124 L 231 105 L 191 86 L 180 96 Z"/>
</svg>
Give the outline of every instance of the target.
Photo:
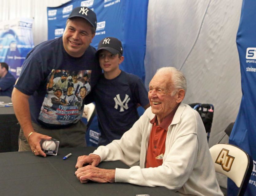
<svg viewBox="0 0 256 196">
<path fill-rule="evenodd" d="M 0 62 L 0 96 L 12 96 L 15 77 L 9 73 L 9 66 L 5 62 Z"/>
</svg>

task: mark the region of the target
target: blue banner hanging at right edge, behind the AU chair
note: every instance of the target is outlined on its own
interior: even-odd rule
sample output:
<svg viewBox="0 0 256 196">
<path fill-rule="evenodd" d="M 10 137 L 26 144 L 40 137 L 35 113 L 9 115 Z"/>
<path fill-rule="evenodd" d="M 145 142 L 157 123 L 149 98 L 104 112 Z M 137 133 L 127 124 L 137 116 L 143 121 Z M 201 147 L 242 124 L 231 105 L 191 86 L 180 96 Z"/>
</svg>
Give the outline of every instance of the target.
<svg viewBox="0 0 256 196">
<path fill-rule="evenodd" d="M 245 195 L 256 193 L 256 1 L 243 0 L 237 32 L 242 100 L 229 143 L 245 150 L 253 158 L 254 167 Z M 228 195 L 237 195 L 238 188 L 228 180 Z"/>
</svg>

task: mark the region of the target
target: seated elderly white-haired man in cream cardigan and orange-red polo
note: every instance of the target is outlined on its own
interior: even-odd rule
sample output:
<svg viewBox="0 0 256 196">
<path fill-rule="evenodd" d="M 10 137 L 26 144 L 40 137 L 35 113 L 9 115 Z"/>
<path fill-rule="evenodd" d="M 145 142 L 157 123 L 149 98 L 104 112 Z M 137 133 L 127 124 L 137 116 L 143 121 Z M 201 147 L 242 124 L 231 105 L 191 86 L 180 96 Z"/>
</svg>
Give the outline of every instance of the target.
<svg viewBox="0 0 256 196">
<path fill-rule="evenodd" d="M 149 83 L 148 108 L 120 140 L 79 156 L 77 178 L 107 183 L 161 186 L 180 195 L 223 195 L 199 113 L 181 104 L 187 89 L 182 72 L 157 70 Z M 121 160 L 129 169 L 96 168 L 101 161 Z M 84 164 L 89 164 L 83 167 Z"/>
</svg>

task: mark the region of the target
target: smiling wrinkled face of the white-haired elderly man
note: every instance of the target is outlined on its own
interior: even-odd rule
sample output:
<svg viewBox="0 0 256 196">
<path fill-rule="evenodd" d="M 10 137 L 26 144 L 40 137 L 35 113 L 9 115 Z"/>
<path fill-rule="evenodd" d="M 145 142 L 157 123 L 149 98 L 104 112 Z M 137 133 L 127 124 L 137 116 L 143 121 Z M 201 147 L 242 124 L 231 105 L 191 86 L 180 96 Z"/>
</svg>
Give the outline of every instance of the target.
<svg viewBox="0 0 256 196">
<path fill-rule="evenodd" d="M 178 99 L 178 92 L 173 96 L 173 87 L 170 74 L 155 75 L 149 83 L 149 103 L 157 119 L 163 120 L 182 101 Z"/>
</svg>

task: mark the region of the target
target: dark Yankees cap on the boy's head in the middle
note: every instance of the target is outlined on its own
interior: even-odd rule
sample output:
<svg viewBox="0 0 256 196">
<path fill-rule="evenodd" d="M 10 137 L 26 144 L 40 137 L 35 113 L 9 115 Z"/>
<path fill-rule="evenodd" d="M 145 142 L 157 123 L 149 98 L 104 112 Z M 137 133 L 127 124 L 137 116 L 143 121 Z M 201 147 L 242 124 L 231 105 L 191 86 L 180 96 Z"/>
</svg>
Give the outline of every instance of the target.
<svg viewBox="0 0 256 196">
<path fill-rule="evenodd" d="M 111 52 L 113 55 L 116 55 L 117 53 L 120 53 L 121 55 L 123 55 L 122 42 L 114 37 L 106 37 L 103 40 L 100 40 L 97 54 L 99 50 L 102 50 L 102 49 L 105 49 Z"/>
</svg>

